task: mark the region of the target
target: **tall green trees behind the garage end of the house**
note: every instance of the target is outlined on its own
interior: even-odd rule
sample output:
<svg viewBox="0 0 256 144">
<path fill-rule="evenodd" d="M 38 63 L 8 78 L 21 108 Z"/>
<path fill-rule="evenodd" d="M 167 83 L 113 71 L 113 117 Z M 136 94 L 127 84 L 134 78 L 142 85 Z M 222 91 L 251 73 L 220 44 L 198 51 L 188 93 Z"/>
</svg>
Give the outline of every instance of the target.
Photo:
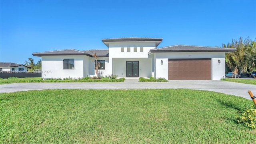
<svg viewBox="0 0 256 144">
<path fill-rule="evenodd" d="M 225 54 L 228 71 L 233 71 L 237 66 L 240 74 L 256 71 L 256 41 L 249 38 L 239 40 L 232 39 L 228 44 L 222 44 L 223 48 L 236 48 L 235 52 Z"/>
</svg>

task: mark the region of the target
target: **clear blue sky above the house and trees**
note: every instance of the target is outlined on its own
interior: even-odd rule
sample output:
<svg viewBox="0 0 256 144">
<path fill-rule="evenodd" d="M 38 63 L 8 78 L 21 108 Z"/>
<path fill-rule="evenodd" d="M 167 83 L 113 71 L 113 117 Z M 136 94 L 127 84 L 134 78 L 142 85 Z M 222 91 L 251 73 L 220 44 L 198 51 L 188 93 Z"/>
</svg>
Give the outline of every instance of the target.
<svg viewBox="0 0 256 144">
<path fill-rule="evenodd" d="M 0 61 L 23 64 L 33 52 L 107 49 L 102 38 L 163 38 L 222 46 L 256 38 L 256 1 L 0 0 Z"/>
</svg>

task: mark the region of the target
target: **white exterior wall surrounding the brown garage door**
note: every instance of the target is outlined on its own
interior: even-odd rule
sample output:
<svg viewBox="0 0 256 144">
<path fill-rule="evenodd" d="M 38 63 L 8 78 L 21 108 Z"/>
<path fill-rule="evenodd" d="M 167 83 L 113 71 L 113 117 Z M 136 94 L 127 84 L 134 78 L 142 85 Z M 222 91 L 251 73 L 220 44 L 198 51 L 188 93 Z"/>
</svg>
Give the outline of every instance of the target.
<svg viewBox="0 0 256 144">
<path fill-rule="evenodd" d="M 168 80 L 168 59 L 169 58 L 211 58 L 212 59 L 212 80 L 220 80 L 225 76 L 225 52 L 166 52 L 154 53 L 156 55 L 155 78 Z M 163 65 L 161 65 L 163 60 Z M 218 64 L 218 60 L 221 61 Z"/>
</svg>

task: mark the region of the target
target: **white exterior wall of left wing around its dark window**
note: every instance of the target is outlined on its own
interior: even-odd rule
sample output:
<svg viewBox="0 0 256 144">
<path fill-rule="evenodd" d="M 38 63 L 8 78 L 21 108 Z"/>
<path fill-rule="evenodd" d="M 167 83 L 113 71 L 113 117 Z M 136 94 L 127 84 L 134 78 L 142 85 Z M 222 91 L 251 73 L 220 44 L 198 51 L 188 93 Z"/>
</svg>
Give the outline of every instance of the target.
<svg viewBox="0 0 256 144">
<path fill-rule="evenodd" d="M 42 78 L 82 78 L 84 77 L 84 57 L 42 56 Z M 75 68 L 63 69 L 63 59 L 74 59 Z"/>
</svg>

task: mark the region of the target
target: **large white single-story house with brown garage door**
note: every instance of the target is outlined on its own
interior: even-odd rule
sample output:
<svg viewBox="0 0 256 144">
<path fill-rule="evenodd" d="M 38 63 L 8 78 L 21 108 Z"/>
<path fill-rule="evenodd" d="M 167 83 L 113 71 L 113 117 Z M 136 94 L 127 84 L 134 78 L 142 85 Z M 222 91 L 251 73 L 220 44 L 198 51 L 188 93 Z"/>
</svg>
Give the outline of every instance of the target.
<svg viewBox="0 0 256 144">
<path fill-rule="evenodd" d="M 98 73 L 118 77 L 168 80 L 220 80 L 225 76 L 225 54 L 235 48 L 174 45 L 156 48 L 162 38 L 107 38 L 108 49 L 36 52 L 42 57 L 43 78 L 96 76 L 93 53 L 100 60 Z"/>
</svg>

